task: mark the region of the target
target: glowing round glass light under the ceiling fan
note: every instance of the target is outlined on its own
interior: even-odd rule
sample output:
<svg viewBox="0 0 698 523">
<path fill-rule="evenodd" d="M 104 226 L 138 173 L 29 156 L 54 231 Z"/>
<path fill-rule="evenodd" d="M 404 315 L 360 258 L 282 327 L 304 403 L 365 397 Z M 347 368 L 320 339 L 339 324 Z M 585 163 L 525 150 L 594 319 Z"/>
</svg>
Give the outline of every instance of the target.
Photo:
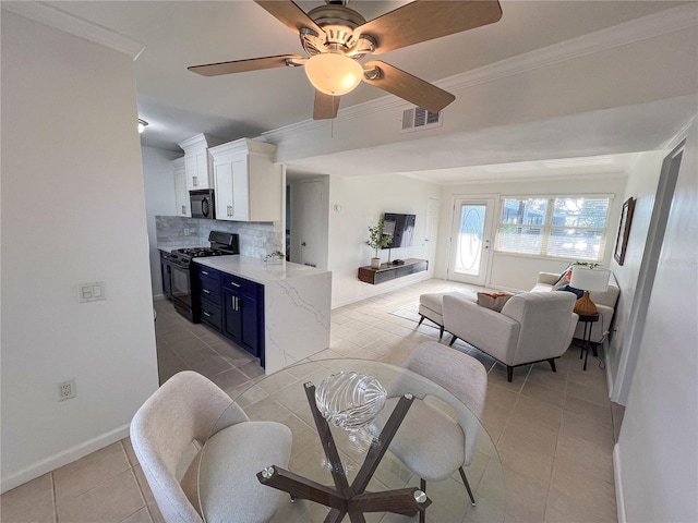
<svg viewBox="0 0 698 523">
<path fill-rule="evenodd" d="M 359 85 L 363 77 L 363 68 L 349 57 L 326 52 L 315 54 L 305 62 L 305 74 L 317 90 L 326 95 L 341 96 Z"/>
</svg>

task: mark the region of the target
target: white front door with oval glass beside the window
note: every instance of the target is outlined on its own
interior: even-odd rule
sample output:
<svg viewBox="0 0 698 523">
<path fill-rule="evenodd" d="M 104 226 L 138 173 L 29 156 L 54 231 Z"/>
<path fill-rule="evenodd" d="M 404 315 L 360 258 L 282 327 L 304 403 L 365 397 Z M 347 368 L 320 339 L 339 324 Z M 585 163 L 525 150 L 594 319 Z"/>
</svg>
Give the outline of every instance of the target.
<svg viewBox="0 0 698 523">
<path fill-rule="evenodd" d="M 494 198 L 457 199 L 448 279 L 485 285 L 492 255 Z"/>
</svg>

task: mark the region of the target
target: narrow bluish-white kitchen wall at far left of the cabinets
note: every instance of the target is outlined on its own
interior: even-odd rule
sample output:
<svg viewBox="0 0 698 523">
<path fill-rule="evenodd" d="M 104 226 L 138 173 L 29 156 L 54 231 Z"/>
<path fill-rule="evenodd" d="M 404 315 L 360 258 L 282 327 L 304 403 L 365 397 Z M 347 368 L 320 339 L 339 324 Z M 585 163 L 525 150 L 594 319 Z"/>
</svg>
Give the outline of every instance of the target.
<svg viewBox="0 0 698 523">
<path fill-rule="evenodd" d="M 147 129 L 145 131 L 147 133 Z M 174 172 L 171 161 L 183 156 L 181 153 L 141 147 L 143 158 L 143 181 L 145 183 L 145 215 L 148 226 L 151 254 L 151 283 L 153 296 L 163 297 L 163 276 L 160 275 L 160 252 L 157 250 L 155 230 L 156 216 L 173 216 Z"/>
</svg>

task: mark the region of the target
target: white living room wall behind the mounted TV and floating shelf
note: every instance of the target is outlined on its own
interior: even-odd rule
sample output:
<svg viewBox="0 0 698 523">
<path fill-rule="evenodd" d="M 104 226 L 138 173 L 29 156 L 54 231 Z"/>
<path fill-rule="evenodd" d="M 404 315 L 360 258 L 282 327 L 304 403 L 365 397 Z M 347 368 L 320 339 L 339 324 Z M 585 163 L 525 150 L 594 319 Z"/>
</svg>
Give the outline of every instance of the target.
<svg viewBox="0 0 698 523">
<path fill-rule="evenodd" d="M 359 281 L 359 267 L 371 264 L 374 252 L 365 244 L 369 226 L 375 226 L 384 212 L 416 215 L 414 242 L 411 247 L 392 250 L 392 259 L 426 258 L 426 202 L 438 199 L 438 185 L 399 174 L 330 178 L 329 181 L 329 255 L 333 272 L 333 308 L 382 294 L 392 289 L 431 278 L 429 271 L 419 272 L 378 285 Z M 341 210 L 335 210 L 340 205 Z M 388 252 L 381 252 L 387 262 Z"/>
</svg>

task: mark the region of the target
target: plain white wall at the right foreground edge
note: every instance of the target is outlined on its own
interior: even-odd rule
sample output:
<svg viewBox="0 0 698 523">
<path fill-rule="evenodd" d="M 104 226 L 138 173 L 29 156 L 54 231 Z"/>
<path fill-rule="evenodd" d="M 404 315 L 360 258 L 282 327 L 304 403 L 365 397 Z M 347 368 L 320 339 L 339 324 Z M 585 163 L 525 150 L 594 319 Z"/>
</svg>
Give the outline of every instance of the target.
<svg viewBox="0 0 698 523">
<path fill-rule="evenodd" d="M 696 172 L 698 129 L 694 123 L 614 452 L 622 522 L 698 521 Z"/>
</svg>

